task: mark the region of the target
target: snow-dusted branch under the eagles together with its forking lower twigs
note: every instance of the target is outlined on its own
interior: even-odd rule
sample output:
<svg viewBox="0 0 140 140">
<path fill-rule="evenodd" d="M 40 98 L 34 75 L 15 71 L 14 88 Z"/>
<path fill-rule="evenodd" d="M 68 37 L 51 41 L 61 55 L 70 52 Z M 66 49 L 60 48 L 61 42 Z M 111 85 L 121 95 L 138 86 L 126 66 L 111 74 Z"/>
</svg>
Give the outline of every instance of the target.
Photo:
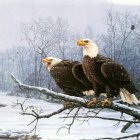
<svg viewBox="0 0 140 140">
<path fill-rule="evenodd" d="M 111 110 L 115 110 L 115 111 L 119 111 L 119 112 L 127 114 L 127 115 L 130 115 L 134 118 L 134 120 L 126 120 L 126 119 L 117 119 L 117 118 L 108 118 L 108 117 L 97 116 L 99 114 L 99 112 L 104 109 L 100 104 L 98 104 L 96 106 L 94 105 L 94 106 L 89 107 L 86 104 L 87 101 L 88 101 L 87 99 L 83 99 L 83 98 L 80 98 L 80 97 L 69 96 L 69 95 L 65 95 L 65 94 L 62 94 L 62 93 L 56 93 L 56 92 L 51 91 L 47 88 L 29 86 L 29 85 L 23 84 L 21 81 L 16 79 L 14 76 L 11 76 L 11 78 L 21 89 L 37 91 L 38 93 L 49 95 L 49 96 L 52 96 L 53 98 L 78 103 L 79 105 L 77 107 L 74 107 L 74 108 L 77 108 L 77 110 L 72 116 L 70 116 L 69 114 L 71 113 L 71 111 L 74 108 L 69 108 L 70 109 L 69 113 L 64 117 L 61 117 L 61 118 L 65 118 L 65 119 L 72 118 L 72 122 L 70 124 L 66 125 L 65 127 L 62 127 L 62 128 L 67 128 L 68 132 L 70 132 L 71 126 L 73 125 L 75 119 L 78 119 L 78 118 L 84 118 L 84 119 L 85 118 L 86 119 L 98 118 L 98 119 L 112 120 L 112 121 L 118 121 L 118 122 L 127 122 L 127 123 L 131 123 L 131 124 L 132 123 L 140 123 L 140 121 L 139 121 L 140 120 L 140 110 L 138 110 L 136 108 L 133 108 L 133 107 L 130 107 L 130 106 L 127 106 L 127 105 L 124 105 L 124 104 L 120 104 L 117 101 L 114 101 L 111 106 L 106 107 L 106 108 L 111 109 Z M 22 115 L 29 115 L 29 116 L 34 117 L 34 120 L 30 124 L 36 122 L 35 127 L 33 128 L 33 130 L 35 130 L 35 131 L 36 131 L 36 127 L 37 127 L 37 123 L 38 123 L 39 119 L 50 118 L 50 117 L 52 117 L 54 115 L 57 115 L 57 114 L 60 114 L 60 113 L 62 113 L 65 110 L 68 109 L 68 108 L 62 107 L 62 108 L 60 108 L 60 109 L 58 109 L 58 110 L 56 110 L 52 113 L 49 113 L 49 114 L 45 113 L 45 115 L 44 115 L 44 114 L 41 113 L 41 111 L 38 111 L 38 110 L 36 111 L 35 109 L 28 110 L 27 108 L 24 108 L 24 106 L 23 106 L 24 102 L 23 103 L 17 102 L 17 105 L 20 105 L 21 110 L 22 110 L 22 112 L 21 112 Z M 79 115 L 78 112 L 82 108 L 88 108 L 89 111 L 87 111 L 87 113 L 88 112 L 90 113 L 92 111 L 94 113 L 94 116 L 93 116 L 93 114 L 92 114 L 92 116 L 91 115 L 89 116 L 87 113 L 84 116 Z M 97 110 L 100 109 L 100 110 L 99 111 L 94 111 L 94 109 L 97 109 Z M 136 133 L 136 134 L 133 134 L 133 135 L 127 135 L 125 137 L 120 137 L 119 139 L 125 139 L 125 138 L 131 138 L 131 137 L 134 138 L 134 137 L 138 137 L 139 135 L 140 135 L 139 133 Z M 106 138 L 102 138 L 102 139 L 106 139 Z M 114 138 L 107 138 L 107 139 L 112 139 L 113 140 Z"/>
</svg>

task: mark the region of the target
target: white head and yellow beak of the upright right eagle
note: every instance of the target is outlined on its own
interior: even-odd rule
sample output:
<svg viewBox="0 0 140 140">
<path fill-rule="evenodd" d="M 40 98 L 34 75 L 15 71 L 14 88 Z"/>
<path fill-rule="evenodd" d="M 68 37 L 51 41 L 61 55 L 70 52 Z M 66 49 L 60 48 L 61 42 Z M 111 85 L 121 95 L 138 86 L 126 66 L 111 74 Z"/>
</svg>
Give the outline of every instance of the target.
<svg viewBox="0 0 140 140">
<path fill-rule="evenodd" d="M 90 39 L 80 39 L 77 41 L 77 45 L 83 47 L 83 55 L 88 55 L 94 58 L 98 55 L 98 46 Z"/>
</svg>

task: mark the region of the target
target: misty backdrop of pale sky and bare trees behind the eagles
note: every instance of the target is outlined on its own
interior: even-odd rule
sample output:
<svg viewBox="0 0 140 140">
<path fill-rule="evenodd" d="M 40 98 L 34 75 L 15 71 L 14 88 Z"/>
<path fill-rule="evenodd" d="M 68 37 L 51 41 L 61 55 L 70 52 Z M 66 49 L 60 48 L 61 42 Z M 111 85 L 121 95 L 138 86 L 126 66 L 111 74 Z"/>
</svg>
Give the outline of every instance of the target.
<svg viewBox="0 0 140 140">
<path fill-rule="evenodd" d="M 96 41 L 101 54 L 123 64 L 140 89 L 139 8 L 138 0 L 0 0 L 0 90 L 24 92 L 13 84 L 13 74 L 60 91 L 41 59 L 81 61 L 80 38 Z"/>
</svg>

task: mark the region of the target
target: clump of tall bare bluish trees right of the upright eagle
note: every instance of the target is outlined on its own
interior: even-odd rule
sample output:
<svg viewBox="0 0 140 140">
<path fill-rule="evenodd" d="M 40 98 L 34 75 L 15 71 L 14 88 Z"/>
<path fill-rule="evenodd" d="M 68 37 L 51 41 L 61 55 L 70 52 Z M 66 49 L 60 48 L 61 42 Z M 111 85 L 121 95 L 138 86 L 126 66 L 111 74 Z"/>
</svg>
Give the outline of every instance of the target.
<svg viewBox="0 0 140 140">
<path fill-rule="evenodd" d="M 134 80 L 139 79 L 140 74 L 139 23 L 138 16 L 116 12 L 111 8 L 107 12 L 106 34 L 100 37 L 102 52 L 123 64 Z"/>
</svg>

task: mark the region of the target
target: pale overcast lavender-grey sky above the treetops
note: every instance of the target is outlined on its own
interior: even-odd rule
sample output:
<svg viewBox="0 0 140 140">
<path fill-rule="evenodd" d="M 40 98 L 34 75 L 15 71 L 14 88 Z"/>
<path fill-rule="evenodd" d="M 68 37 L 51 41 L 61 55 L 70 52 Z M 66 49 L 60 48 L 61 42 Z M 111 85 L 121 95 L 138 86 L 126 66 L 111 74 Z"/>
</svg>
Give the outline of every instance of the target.
<svg viewBox="0 0 140 140">
<path fill-rule="evenodd" d="M 39 17 L 63 17 L 77 32 L 87 25 L 100 32 L 112 4 L 119 11 L 140 12 L 140 0 L 0 0 L 0 51 L 21 44 L 21 23 Z"/>
</svg>

